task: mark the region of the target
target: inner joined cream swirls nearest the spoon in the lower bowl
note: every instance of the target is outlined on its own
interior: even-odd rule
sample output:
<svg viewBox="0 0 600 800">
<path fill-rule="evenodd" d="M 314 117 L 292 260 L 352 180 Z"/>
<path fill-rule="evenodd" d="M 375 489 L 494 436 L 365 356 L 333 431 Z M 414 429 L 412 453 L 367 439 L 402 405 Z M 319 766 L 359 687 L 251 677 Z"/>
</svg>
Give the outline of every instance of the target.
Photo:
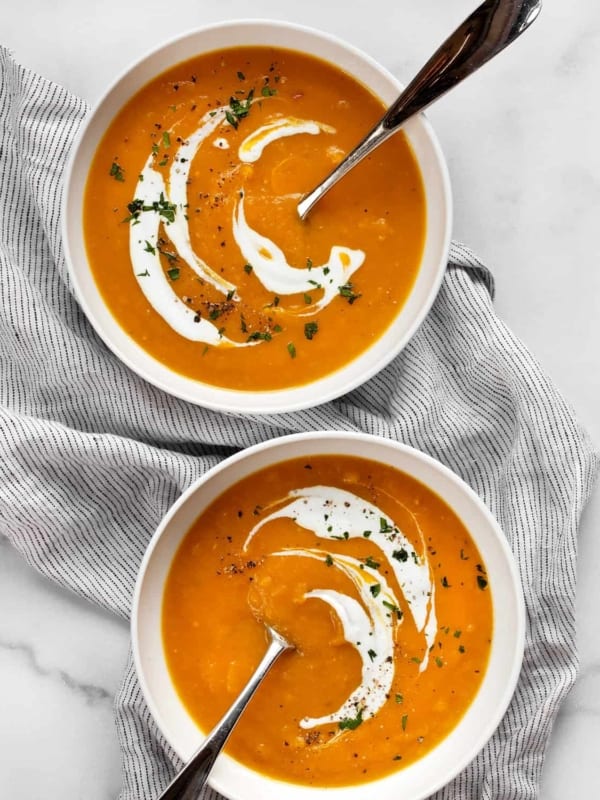
<svg viewBox="0 0 600 800">
<path fill-rule="evenodd" d="M 308 548 L 281 550 L 274 556 L 299 556 L 323 561 L 327 556 L 331 566 L 341 570 L 354 583 L 363 607 L 352 597 L 331 589 L 316 589 L 307 592 L 306 598 L 323 600 L 337 614 L 342 624 L 345 639 L 357 650 L 362 661 L 362 676 L 359 686 L 348 699 L 332 714 L 322 717 L 304 717 L 302 728 L 314 728 L 346 719 L 356 719 L 360 713 L 363 719 L 375 716 L 385 704 L 394 678 L 394 630 L 399 622 L 396 612 L 390 607 L 398 607 L 398 600 L 387 581 L 368 569 L 361 561 L 339 553 L 327 553 Z M 373 596 L 371 587 L 379 586 L 379 593 Z M 388 603 L 386 606 L 385 603 Z"/>
</svg>

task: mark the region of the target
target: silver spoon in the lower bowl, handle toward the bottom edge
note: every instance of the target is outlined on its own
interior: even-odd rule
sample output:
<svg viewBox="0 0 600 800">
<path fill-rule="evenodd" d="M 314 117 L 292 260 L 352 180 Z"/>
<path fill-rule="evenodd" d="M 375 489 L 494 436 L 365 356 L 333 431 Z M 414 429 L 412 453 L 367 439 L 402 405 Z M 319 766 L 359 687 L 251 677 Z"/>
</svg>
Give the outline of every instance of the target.
<svg viewBox="0 0 600 800">
<path fill-rule="evenodd" d="M 196 800 L 200 791 L 206 785 L 210 771 L 217 756 L 225 746 L 229 734 L 248 705 L 252 695 L 258 689 L 261 681 L 271 669 L 275 661 L 285 651 L 293 647 L 276 630 L 265 625 L 270 637 L 269 647 L 262 661 L 254 671 L 239 697 L 220 722 L 215 725 L 202 745 L 181 772 L 176 775 L 158 800 Z"/>
</svg>

